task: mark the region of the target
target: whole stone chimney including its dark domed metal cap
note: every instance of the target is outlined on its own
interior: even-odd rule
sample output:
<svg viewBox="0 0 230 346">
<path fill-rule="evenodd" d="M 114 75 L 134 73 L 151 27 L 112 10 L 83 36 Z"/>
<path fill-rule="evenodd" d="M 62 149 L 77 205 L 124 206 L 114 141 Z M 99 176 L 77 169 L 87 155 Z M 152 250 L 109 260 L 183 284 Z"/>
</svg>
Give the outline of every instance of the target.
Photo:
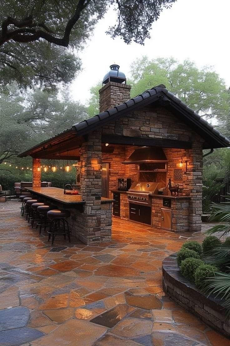
<svg viewBox="0 0 230 346">
<path fill-rule="evenodd" d="M 110 71 L 103 78 L 104 85 L 99 90 L 100 113 L 130 99 L 131 85 L 126 84 L 126 76 L 119 71 L 119 67 L 111 65 Z"/>
</svg>

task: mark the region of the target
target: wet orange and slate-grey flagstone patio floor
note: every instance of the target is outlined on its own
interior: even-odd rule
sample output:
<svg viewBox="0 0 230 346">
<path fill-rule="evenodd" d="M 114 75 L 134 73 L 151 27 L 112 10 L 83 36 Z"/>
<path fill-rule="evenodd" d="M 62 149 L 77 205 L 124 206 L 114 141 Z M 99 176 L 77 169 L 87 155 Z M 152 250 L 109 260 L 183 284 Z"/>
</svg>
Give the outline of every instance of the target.
<svg viewBox="0 0 230 346">
<path fill-rule="evenodd" d="M 45 233 L 0 205 L 0 346 L 229 346 L 162 290 L 161 263 L 188 238 L 120 219 L 86 246 Z"/>
</svg>

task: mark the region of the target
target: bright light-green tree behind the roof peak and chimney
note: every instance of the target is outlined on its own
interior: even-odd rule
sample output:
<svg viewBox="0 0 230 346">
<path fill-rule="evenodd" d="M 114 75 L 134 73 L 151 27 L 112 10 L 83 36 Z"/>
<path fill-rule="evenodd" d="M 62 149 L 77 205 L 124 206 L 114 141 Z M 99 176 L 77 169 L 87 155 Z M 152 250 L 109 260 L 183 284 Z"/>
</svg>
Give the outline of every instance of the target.
<svg viewBox="0 0 230 346">
<path fill-rule="evenodd" d="M 153 86 L 164 84 L 173 95 L 201 116 L 207 119 L 222 119 L 223 122 L 229 118 L 230 92 L 220 76 L 210 67 L 198 69 L 189 60 L 179 64 L 173 58 L 149 60 L 146 56 L 131 66 L 131 78 L 127 80 L 127 84 L 132 86 L 131 97 Z M 98 111 L 98 86 L 99 84 L 91 89 L 92 96 L 89 101 L 90 112 L 94 115 Z"/>
</svg>

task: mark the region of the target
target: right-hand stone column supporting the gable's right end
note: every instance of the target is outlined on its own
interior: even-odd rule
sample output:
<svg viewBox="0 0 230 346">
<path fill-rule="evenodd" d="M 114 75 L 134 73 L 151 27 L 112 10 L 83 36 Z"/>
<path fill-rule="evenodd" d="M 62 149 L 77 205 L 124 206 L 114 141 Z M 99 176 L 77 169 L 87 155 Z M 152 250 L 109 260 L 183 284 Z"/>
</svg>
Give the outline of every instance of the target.
<svg viewBox="0 0 230 346">
<path fill-rule="evenodd" d="M 193 142 L 192 149 L 186 150 L 189 161 L 187 163 L 188 172 L 183 175 L 184 192 L 191 196 L 189 200 L 189 231 L 201 231 L 202 214 L 202 143 L 197 138 Z"/>
</svg>

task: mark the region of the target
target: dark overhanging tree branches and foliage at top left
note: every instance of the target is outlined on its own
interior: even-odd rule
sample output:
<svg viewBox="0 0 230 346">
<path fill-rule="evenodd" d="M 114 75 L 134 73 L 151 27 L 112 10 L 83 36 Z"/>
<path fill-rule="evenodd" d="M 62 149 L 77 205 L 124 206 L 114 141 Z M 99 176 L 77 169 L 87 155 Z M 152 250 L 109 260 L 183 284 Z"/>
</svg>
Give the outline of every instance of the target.
<svg viewBox="0 0 230 346">
<path fill-rule="evenodd" d="M 73 49 L 82 48 L 109 6 L 116 12 L 117 23 L 107 33 L 113 38 L 121 36 L 126 43 L 143 44 L 163 8 L 175 1 L 3 0 L 0 84 L 14 80 L 22 87 L 31 86 L 32 81 L 53 86 L 71 81 L 80 67 Z"/>
</svg>

